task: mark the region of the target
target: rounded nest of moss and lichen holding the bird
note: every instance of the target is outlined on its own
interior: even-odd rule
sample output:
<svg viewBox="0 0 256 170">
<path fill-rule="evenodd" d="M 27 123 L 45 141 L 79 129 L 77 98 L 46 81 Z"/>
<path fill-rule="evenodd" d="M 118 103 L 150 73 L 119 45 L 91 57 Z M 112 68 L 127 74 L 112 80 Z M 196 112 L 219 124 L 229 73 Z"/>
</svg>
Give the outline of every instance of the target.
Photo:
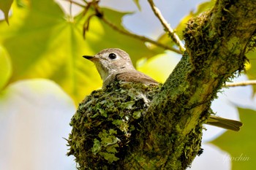
<svg viewBox="0 0 256 170">
<path fill-rule="evenodd" d="M 143 115 L 159 87 L 113 82 L 86 96 L 72 117 L 68 139 L 67 155 L 75 156 L 78 169 L 115 168 L 129 150 L 128 144 L 138 144 L 136 134 L 143 131 Z"/>
</svg>

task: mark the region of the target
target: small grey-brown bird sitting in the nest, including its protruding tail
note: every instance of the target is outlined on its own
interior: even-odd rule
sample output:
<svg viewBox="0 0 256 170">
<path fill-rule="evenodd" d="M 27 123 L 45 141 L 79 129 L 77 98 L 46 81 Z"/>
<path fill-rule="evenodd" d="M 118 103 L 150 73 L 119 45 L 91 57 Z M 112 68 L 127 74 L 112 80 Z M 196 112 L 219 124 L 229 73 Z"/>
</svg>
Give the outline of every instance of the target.
<svg viewBox="0 0 256 170">
<path fill-rule="evenodd" d="M 102 89 L 108 88 L 114 81 L 142 82 L 145 85 L 159 85 L 159 82 L 153 78 L 136 70 L 132 65 L 129 54 L 124 50 L 108 48 L 101 50 L 96 55 L 83 55 L 83 58 L 92 61 L 96 66 L 103 81 Z M 238 120 L 230 120 L 216 115 L 210 115 L 206 124 L 232 131 L 239 131 L 243 125 Z"/>
</svg>

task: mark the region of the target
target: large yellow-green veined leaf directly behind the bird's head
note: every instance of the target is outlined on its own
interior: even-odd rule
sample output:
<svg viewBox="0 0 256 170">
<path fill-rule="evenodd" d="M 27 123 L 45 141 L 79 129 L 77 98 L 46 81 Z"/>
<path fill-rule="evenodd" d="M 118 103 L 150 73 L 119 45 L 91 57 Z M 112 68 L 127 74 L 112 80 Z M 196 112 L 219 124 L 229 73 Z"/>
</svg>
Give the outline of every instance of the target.
<svg viewBox="0 0 256 170">
<path fill-rule="evenodd" d="M 52 0 L 14 3 L 11 26 L 0 23 L 0 43 L 10 53 L 13 65 L 11 82 L 45 78 L 57 82 L 78 104 L 102 81 L 95 66 L 83 55 L 94 55 L 108 47 L 126 50 L 136 62 L 155 53 L 138 39 L 120 34 L 97 18 L 91 18 L 90 29 L 83 39 L 83 23 L 88 15 L 76 18 L 64 14 Z M 108 20 L 121 26 L 127 13 L 102 9 Z M 91 13 L 90 13 L 91 12 Z"/>
</svg>

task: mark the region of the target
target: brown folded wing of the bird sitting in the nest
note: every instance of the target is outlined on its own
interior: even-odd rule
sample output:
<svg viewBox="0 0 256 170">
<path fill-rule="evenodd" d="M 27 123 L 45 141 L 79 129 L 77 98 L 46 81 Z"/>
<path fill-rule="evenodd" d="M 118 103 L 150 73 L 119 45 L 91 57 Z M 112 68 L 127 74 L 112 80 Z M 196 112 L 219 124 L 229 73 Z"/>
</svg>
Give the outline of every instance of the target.
<svg viewBox="0 0 256 170">
<path fill-rule="evenodd" d="M 124 82 L 143 82 L 148 85 L 158 85 L 159 83 L 142 72 L 122 72 L 116 74 L 116 80 Z"/>
</svg>

